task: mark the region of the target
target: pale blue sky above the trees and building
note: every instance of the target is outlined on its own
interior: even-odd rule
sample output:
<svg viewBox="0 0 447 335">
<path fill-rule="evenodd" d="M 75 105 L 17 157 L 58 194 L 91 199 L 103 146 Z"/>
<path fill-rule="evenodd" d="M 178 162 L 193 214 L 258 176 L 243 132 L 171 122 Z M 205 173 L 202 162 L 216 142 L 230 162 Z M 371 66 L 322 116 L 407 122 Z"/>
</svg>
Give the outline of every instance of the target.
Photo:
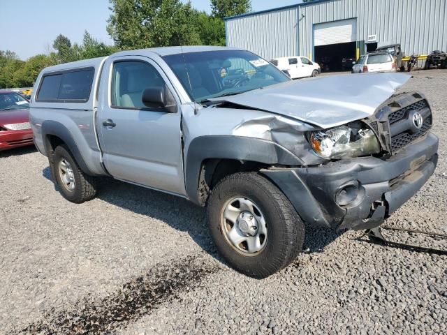
<svg viewBox="0 0 447 335">
<path fill-rule="evenodd" d="M 186 2 L 186 0 L 182 0 Z M 252 0 L 254 11 L 293 5 L 301 0 Z M 210 13 L 210 0 L 191 0 Z M 0 50 L 16 52 L 20 59 L 52 50 L 54 38 L 64 34 L 81 43 L 84 31 L 112 44 L 105 27 L 110 16 L 108 0 L 0 0 Z"/>
</svg>

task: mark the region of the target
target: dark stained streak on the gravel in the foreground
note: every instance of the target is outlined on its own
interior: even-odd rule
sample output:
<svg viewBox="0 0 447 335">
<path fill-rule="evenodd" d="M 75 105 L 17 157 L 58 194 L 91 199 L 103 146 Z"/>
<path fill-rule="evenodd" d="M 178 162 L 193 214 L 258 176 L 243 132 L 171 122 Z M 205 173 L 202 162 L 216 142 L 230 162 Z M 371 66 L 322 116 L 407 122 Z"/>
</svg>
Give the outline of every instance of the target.
<svg viewBox="0 0 447 335">
<path fill-rule="evenodd" d="M 87 296 L 65 311 L 53 308 L 42 320 L 14 334 L 115 334 L 160 304 L 181 299 L 180 293 L 197 288 L 215 271 L 219 267 L 200 255 L 161 263 L 103 299 Z"/>
</svg>

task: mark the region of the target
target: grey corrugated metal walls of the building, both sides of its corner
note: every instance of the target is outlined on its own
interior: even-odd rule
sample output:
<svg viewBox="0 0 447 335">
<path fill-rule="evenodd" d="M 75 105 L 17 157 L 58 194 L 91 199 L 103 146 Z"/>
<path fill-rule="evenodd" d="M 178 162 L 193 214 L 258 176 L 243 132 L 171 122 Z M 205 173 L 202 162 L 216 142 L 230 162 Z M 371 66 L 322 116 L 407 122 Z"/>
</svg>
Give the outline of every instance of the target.
<svg viewBox="0 0 447 335">
<path fill-rule="evenodd" d="M 227 45 L 265 58 L 312 58 L 314 24 L 356 17 L 357 40 L 376 35 L 379 43 L 400 43 L 406 54 L 428 54 L 447 51 L 446 16 L 447 0 L 318 1 L 226 20 Z"/>
</svg>

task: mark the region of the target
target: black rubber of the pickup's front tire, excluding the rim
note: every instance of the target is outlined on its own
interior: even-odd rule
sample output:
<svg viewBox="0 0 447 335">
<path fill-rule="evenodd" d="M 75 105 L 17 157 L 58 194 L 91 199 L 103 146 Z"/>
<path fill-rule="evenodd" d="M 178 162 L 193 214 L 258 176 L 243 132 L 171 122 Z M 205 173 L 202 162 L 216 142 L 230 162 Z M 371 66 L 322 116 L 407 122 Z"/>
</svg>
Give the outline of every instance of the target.
<svg viewBox="0 0 447 335">
<path fill-rule="evenodd" d="M 223 258 L 230 262 L 238 271 L 254 276 L 264 278 L 278 271 L 288 264 L 286 255 L 288 255 L 288 244 L 295 243 L 296 237 L 290 227 L 286 225 L 287 218 L 279 208 L 277 201 L 269 194 L 269 190 L 264 184 L 257 184 L 243 174 L 237 174 L 233 178 L 226 178 L 214 188 L 210 202 L 208 204 L 208 225 L 212 238 Z M 262 177 L 259 177 L 262 178 Z M 266 180 L 267 181 L 267 180 Z M 272 187 L 276 187 L 271 184 Z M 230 246 L 224 233 L 221 231 L 221 214 L 223 206 L 230 198 L 234 197 L 248 198 L 256 204 L 265 217 L 268 224 L 268 238 L 265 247 L 257 255 L 244 255 Z M 285 196 L 284 196 L 285 198 Z M 288 200 L 287 200 L 288 201 Z M 300 218 L 295 214 L 295 224 L 302 224 Z M 304 236 L 302 236 L 304 239 Z M 298 241 L 300 249 L 302 241 Z M 295 246 L 293 246 L 295 248 Z"/>
</svg>

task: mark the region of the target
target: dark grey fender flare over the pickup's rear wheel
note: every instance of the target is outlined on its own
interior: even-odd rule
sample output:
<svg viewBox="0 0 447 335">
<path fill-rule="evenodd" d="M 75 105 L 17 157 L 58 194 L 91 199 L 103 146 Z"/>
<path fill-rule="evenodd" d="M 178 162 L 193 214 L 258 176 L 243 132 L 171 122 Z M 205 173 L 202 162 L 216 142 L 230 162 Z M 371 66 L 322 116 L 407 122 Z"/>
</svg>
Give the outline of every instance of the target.
<svg viewBox="0 0 447 335">
<path fill-rule="evenodd" d="M 68 150 L 70 150 L 71 154 L 73 154 L 75 161 L 78 163 L 82 172 L 94 175 L 94 173 L 92 173 L 87 167 L 87 164 L 85 163 L 84 158 L 82 158 L 82 154 L 80 153 L 71 132 L 68 128 L 66 128 L 66 126 L 64 126 L 64 124 L 52 120 L 46 120 L 42 123 L 42 138 L 44 139 L 43 145 L 45 147 L 45 152 L 48 154 L 48 158 L 51 160 L 51 147 L 50 142 L 48 141 L 48 135 L 57 136 L 64 141 L 68 147 Z"/>
</svg>

